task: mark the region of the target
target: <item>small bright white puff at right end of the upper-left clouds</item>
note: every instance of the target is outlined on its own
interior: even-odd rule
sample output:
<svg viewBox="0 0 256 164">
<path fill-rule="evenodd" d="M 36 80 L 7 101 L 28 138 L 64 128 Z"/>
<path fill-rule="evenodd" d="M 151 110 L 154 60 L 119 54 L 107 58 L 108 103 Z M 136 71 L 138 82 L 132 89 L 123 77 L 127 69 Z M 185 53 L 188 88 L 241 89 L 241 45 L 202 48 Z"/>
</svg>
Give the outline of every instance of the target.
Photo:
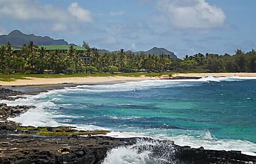
<svg viewBox="0 0 256 164">
<path fill-rule="evenodd" d="M 89 10 L 83 9 L 80 6 L 78 6 L 77 2 L 70 4 L 68 8 L 68 12 L 80 21 L 84 21 L 84 22 L 93 21 L 92 13 Z"/>
</svg>

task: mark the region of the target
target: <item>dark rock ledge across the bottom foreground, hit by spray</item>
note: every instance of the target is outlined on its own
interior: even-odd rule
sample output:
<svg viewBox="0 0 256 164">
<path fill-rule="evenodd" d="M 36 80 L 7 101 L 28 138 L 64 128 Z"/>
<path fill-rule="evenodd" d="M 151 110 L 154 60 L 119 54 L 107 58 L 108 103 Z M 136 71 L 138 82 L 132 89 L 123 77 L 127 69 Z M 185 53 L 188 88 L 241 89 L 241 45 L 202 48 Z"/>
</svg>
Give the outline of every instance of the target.
<svg viewBox="0 0 256 164">
<path fill-rule="evenodd" d="M 109 150 L 132 145 L 136 148 L 138 140 L 159 143 L 137 149 L 140 152 L 150 151 L 150 158 L 165 159 L 153 163 L 256 163 L 254 156 L 237 151 L 194 149 L 177 146 L 169 141 L 147 138 L 116 139 L 110 136 L 43 138 L 15 135 L 8 138 L 0 135 L 0 163 L 101 163 Z"/>
</svg>

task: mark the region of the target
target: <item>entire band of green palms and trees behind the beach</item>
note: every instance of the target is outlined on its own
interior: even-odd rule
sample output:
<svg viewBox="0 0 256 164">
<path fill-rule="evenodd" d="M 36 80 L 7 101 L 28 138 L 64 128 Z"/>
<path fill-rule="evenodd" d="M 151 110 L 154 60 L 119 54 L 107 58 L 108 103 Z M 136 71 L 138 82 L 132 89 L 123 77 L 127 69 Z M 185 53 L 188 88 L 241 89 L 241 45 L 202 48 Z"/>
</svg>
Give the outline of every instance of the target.
<svg viewBox="0 0 256 164">
<path fill-rule="evenodd" d="M 20 50 L 12 50 L 10 43 L 0 46 L 0 71 L 5 74 L 63 73 L 63 70 L 87 70 L 93 72 L 134 72 L 134 71 L 177 71 L 177 72 L 256 72 L 256 52 L 236 50 L 233 55 L 198 53 L 185 56 L 184 59 L 173 59 L 168 55 L 135 54 L 120 49 L 117 52 L 100 53 L 97 48 L 90 48 L 88 43 L 82 45 L 86 51 L 77 51 L 71 45 L 66 53 L 58 49 L 48 53 L 44 47 L 33 42 L 24 44 Z M 83 63 L 82 56 L 90 57 L 90 66 Z"/>
</svg>

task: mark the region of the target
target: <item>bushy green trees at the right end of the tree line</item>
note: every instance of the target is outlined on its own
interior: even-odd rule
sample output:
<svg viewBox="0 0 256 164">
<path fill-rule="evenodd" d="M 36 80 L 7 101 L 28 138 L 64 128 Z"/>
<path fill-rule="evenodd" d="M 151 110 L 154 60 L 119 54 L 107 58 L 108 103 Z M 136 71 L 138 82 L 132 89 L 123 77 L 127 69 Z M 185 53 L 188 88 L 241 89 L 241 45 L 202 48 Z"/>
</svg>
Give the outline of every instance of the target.
<svg viewBox="0 0 256 164">
<path fill-rule="evenodd" d="M 185 56 L 179 65 L 196 72 L 256 72 L 256 52 L 252 49 L 245 53 L 237 49 L 232 56 L 227 53 L 198 53 L 194 56 Z"/>
</svg>

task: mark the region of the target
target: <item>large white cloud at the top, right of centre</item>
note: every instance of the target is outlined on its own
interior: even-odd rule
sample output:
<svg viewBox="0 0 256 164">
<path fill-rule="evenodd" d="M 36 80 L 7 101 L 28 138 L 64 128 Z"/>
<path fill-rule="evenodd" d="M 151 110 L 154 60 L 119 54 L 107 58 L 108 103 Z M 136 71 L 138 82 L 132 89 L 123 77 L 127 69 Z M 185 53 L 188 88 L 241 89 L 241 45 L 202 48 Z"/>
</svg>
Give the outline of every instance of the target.
<svg viewBox="0 0 256 164">
<path fill-rule="evenodd" d="M 158 9 L 178 29 L 212 29 L 225 23 L 225 13 L 205 0 L 159 0 Z"/>
</svg>

